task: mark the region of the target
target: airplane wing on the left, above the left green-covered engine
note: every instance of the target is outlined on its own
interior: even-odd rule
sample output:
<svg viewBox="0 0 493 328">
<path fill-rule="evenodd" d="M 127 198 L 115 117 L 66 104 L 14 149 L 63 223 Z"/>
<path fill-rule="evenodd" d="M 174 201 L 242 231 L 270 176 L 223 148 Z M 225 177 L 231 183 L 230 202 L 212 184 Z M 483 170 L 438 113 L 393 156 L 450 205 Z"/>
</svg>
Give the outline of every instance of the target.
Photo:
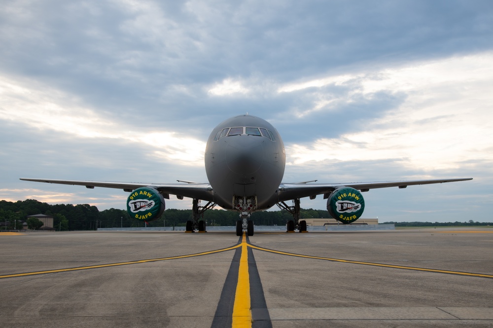
<svg viewBox="0 0 493 328">
<path fill-rule="evenodd" d="M 29 179 L 21 178 L 25 181 L 82 185 L 86 188 L 93 189 L 94 187 L 123 189 L 124 191 L 133 191 L 140 187 L 153 187 L 159 190 L 164 198 L 170 199 L 170 194 L 176 195 L 178 198 L 189 197 L 197 198 L 204 201 L 212 201 L 213 192 L 209 183 L 141 183 L 141 182 L 108 182 L 108 181 L 81 181 L 81 180 L 58 180 L 58 179 Z"/>
</svg>

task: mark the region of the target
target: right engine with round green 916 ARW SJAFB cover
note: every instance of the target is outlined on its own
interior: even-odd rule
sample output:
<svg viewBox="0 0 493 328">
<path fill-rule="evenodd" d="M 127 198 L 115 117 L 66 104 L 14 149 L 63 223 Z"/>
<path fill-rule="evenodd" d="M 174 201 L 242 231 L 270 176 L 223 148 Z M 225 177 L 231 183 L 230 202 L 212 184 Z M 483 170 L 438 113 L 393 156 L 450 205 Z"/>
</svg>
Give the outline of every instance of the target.
<svg viewBox="0 0 493 328">
<path fill-rule="evenodd" d="M 365 209 L 363 195 L 351 187 L 334 190 L 327 199 L 327 210 L 332 217 L 342 223 L 351 223 L 359 219 Z"/>
</svg>

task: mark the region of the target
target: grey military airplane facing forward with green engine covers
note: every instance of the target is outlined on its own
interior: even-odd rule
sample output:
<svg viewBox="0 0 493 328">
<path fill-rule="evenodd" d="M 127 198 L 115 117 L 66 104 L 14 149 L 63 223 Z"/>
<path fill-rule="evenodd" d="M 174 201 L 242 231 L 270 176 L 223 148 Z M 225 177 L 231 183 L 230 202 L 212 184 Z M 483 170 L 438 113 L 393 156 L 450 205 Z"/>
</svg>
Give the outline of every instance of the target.
<svg viewBox="0 0 493 328">
<path fill-rule="evenodd" d="M 327 210 L 336 220 L 354 222 L 364 210 L 362 192 L 370 189 L 472 180 L 472 178 L 431 179 L 385 182 L 314 183 L 317 180 L 282 182 L 286 156 L 279 132 L 268 121 L 239 115 L 219 123 L 211 132 L 205 150 L 205 168 L 209 182 L 177 180 L 180 183 L 135 183 L 79 181 L 60 179 L 21 180 L 116 188 L 130 192 L 127 199 L 129 215 L 140 221 L 158 219 L 165 209 L 165 200 L 175 195 L 182 200 L 192 199 L 192 220 L 186 222 L 186 232 L 206 232 L 200 220 L 206 210 L 216 205 L 237 211 L 236 234 L 246 231 L 253 236 L 252 212 L 277 205 L 289 211 L 293 219 L 287 222 L 287 232 L 307 232 L 307 224 L 300 217 L 300 199 L 315 199 L 323 195 Z M 202 206 L 201 201 L 207 202 Z M 286 202 L 292 201 L 292 205 Z"/>
</svg>

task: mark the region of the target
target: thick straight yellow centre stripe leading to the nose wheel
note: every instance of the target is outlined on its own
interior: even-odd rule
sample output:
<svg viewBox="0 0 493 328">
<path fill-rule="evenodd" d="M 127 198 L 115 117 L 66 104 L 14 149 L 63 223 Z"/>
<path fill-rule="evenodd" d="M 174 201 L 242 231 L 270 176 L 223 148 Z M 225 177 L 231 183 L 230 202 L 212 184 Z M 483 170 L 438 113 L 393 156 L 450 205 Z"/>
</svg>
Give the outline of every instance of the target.
<svg viewBox="0 0 493 328">
<path fill-rule="evenodd" d="M 238 270 L 238 283 L 236 285 L 235 304 L 233 306 L 232 327 L 251 327 L 250 311 L 250 276 L 248 274 L 248 244 L 246 235 L 242 238 L 242 255 L 240 257 L 240 268 Z"/>
</svg>

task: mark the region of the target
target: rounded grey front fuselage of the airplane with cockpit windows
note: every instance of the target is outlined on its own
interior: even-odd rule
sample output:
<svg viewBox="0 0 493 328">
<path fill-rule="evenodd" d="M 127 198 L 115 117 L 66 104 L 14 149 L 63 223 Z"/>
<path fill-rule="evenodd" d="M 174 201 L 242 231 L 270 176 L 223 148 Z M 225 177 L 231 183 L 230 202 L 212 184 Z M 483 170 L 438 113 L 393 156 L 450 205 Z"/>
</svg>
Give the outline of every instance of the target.
<svg viewBox="0 0 493 328">
<path fill-rule="evenodd" d="M 274 206 L 285 163 L 281 136 L 272 124 L 254 116 L 226 119 L 207 141 L 206 174 L 214 202 L 224 209 Z"/>
</svg>

